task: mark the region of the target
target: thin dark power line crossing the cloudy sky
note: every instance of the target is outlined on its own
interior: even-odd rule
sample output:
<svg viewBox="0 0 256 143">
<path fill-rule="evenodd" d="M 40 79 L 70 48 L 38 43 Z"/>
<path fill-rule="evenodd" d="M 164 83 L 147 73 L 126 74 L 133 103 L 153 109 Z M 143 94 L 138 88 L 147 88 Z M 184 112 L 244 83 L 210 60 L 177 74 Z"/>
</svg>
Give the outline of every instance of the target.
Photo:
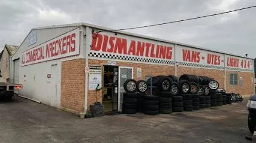
<svg viewBox="0 0 256 143">
<path fill-rule="evenodd" d="M 112 30 L 112 31 L 109 31 L 109 32 L 125 31 L 125 30 L 130 30 L 130 29 L 139 29 L 139 28 L 148 28 L 148 27 L 152 27 L 152 26 L 167 25 L 167 24 L 170 24 L 170 23 L 185 22 L 185 21 L 188 21 L 188 20 L 201 19 L 201 18 L 204 18 L 204 17 L 211 17 L 211 16 L 218 16 L 218 15 L 221 15 L 221 14 L 232 13 L 234 11 L 246 10 L 246 9 L 255 8 L 255 7 L 256 7 L 256 5 L 251 6 L 251 7 L 245 7 L 245 8 L 239 8 L 239 9 L 236 9 L 236 10 L 226 11 L 226 12 L 223 12 L 223 13 L 210 14 L 210 15 L 206 15 L 206 16 L 193 17 L 193 18 L 190 18 L 190 19 L 183 19 L 183 20 L 177 20 L 177 21 L 172 21 L 172 22 L 158 23 L 158 24 L 155 24 L 155 25 L 146 25 L 146 26 L 138 26 L 138 27 L 133 27 L 133 28 L 116 29 L 116 30 Z M 99 31 L 99 32 L 102 32 L 102 31 Z M 99 32 L 97 32 L 97 33 L 99 33 Z"/>
</svg>

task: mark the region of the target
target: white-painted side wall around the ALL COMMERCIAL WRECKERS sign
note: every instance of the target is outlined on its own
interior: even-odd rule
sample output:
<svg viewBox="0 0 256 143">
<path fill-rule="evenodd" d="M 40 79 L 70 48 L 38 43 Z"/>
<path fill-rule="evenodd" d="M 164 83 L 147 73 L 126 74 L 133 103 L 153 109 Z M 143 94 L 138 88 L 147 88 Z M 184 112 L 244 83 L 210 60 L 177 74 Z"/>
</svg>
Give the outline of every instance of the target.
<svg viewBox="0 0 256 143">
<path fill-rule="evenodd" d="M 56 36 L 65 34 L 75 27 L 68 28 L 56 28 L 56 29 L 38 29 L 37 30 L 37 42 L 29 47 L 26 43 L 27 39 L 21 44 L 19 50 L 14 54 L 12 60 L 20 58 L 20 65 L 22 63 L 22 53 L 29 48 L 40 45 L 49 39 L 55 38 Z M 85 33 L 85 29 L 81 28 L 81 33 Z M 47 39 L 47 37 L 49 39 Z M 83 39 L 83 35 L 80 34 L 80 39 Z M 57 65 L 57 91 L 56 91 L 56 108 L 61 105 L 61 62 L 65 60 L 73 60 L 77 58 L 85 58 L 83 50 L 83 40 L 80 40 L 80 54 L 73 57 L 65 57 L 57 60 L 50 60 L 47 62 L 35 63 L 32 65 L 20 66 L 19 83 L 23 84 L 23 89 L 19 91 L 19 95 L 26 96 L 28 98 L 35 99 L 37 101 L 43 102 L 44 104 L 50 105 L 49 102 L 49 88 L 50 83 L 47 83 L 47 74 L 51 74 L 51 66 Z M 12 75 L 13 75 L 13 63 L 12 65 Z M 24 77 L 26 75 L 26 77 Z M 13 76 L 11 76 L 13 78 Z"/>
</svg>

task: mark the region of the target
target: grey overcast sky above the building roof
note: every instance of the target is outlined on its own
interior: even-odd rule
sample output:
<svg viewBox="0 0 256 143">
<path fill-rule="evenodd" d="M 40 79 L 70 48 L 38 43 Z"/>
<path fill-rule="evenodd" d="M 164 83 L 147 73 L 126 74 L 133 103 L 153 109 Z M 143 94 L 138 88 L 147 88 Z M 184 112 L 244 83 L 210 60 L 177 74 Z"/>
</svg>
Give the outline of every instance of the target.
<svg viewBox="0 0 256 143">
<path fill-rule="evenodd" d="M 120 29 L 256 5 L 255 0 L 2 0 L 0 49 L 20 45 L 32 28 L 91 23 Z M 128 32 L 256 57 L 256 8 Z"/>
</svg>

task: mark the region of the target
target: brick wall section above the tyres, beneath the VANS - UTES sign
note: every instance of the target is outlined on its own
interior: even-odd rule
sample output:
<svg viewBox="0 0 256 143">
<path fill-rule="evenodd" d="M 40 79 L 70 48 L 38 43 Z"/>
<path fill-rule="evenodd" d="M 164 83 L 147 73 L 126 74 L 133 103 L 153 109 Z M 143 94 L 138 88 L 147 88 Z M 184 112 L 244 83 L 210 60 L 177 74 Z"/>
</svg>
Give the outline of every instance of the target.
<svg viewBox="0 0 256 143">
<path fill-rule="evenodd" d="M 224 88 L 224 70 L 218 69 L 203 69 L 203 68 L 191 68 L 191 67 L 182 67 L 178 66 L 177 76 L 179 77 L 182 74 L 194 74 L 197 76 L 207 76 L 209 78 L 214 78 L 219 83 L 219 88 Z"/>
</svg>

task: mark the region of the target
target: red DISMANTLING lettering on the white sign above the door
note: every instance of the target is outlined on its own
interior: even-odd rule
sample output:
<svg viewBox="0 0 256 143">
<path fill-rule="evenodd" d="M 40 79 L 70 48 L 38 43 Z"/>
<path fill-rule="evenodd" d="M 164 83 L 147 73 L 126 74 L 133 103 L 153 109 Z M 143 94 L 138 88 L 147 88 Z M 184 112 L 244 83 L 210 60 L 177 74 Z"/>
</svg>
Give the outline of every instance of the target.
<svg viewBox="0 0 256 143">
<path fill-rule="evenodd" d="M 156 57 L 160 59 L 171 59 L 173 47 L 155 45 L 149 42 L 128 40 L 115 36 L 93 34 L 91 50 L 108 53 L 119 53 L 133 56 Z"/>
</svg>

